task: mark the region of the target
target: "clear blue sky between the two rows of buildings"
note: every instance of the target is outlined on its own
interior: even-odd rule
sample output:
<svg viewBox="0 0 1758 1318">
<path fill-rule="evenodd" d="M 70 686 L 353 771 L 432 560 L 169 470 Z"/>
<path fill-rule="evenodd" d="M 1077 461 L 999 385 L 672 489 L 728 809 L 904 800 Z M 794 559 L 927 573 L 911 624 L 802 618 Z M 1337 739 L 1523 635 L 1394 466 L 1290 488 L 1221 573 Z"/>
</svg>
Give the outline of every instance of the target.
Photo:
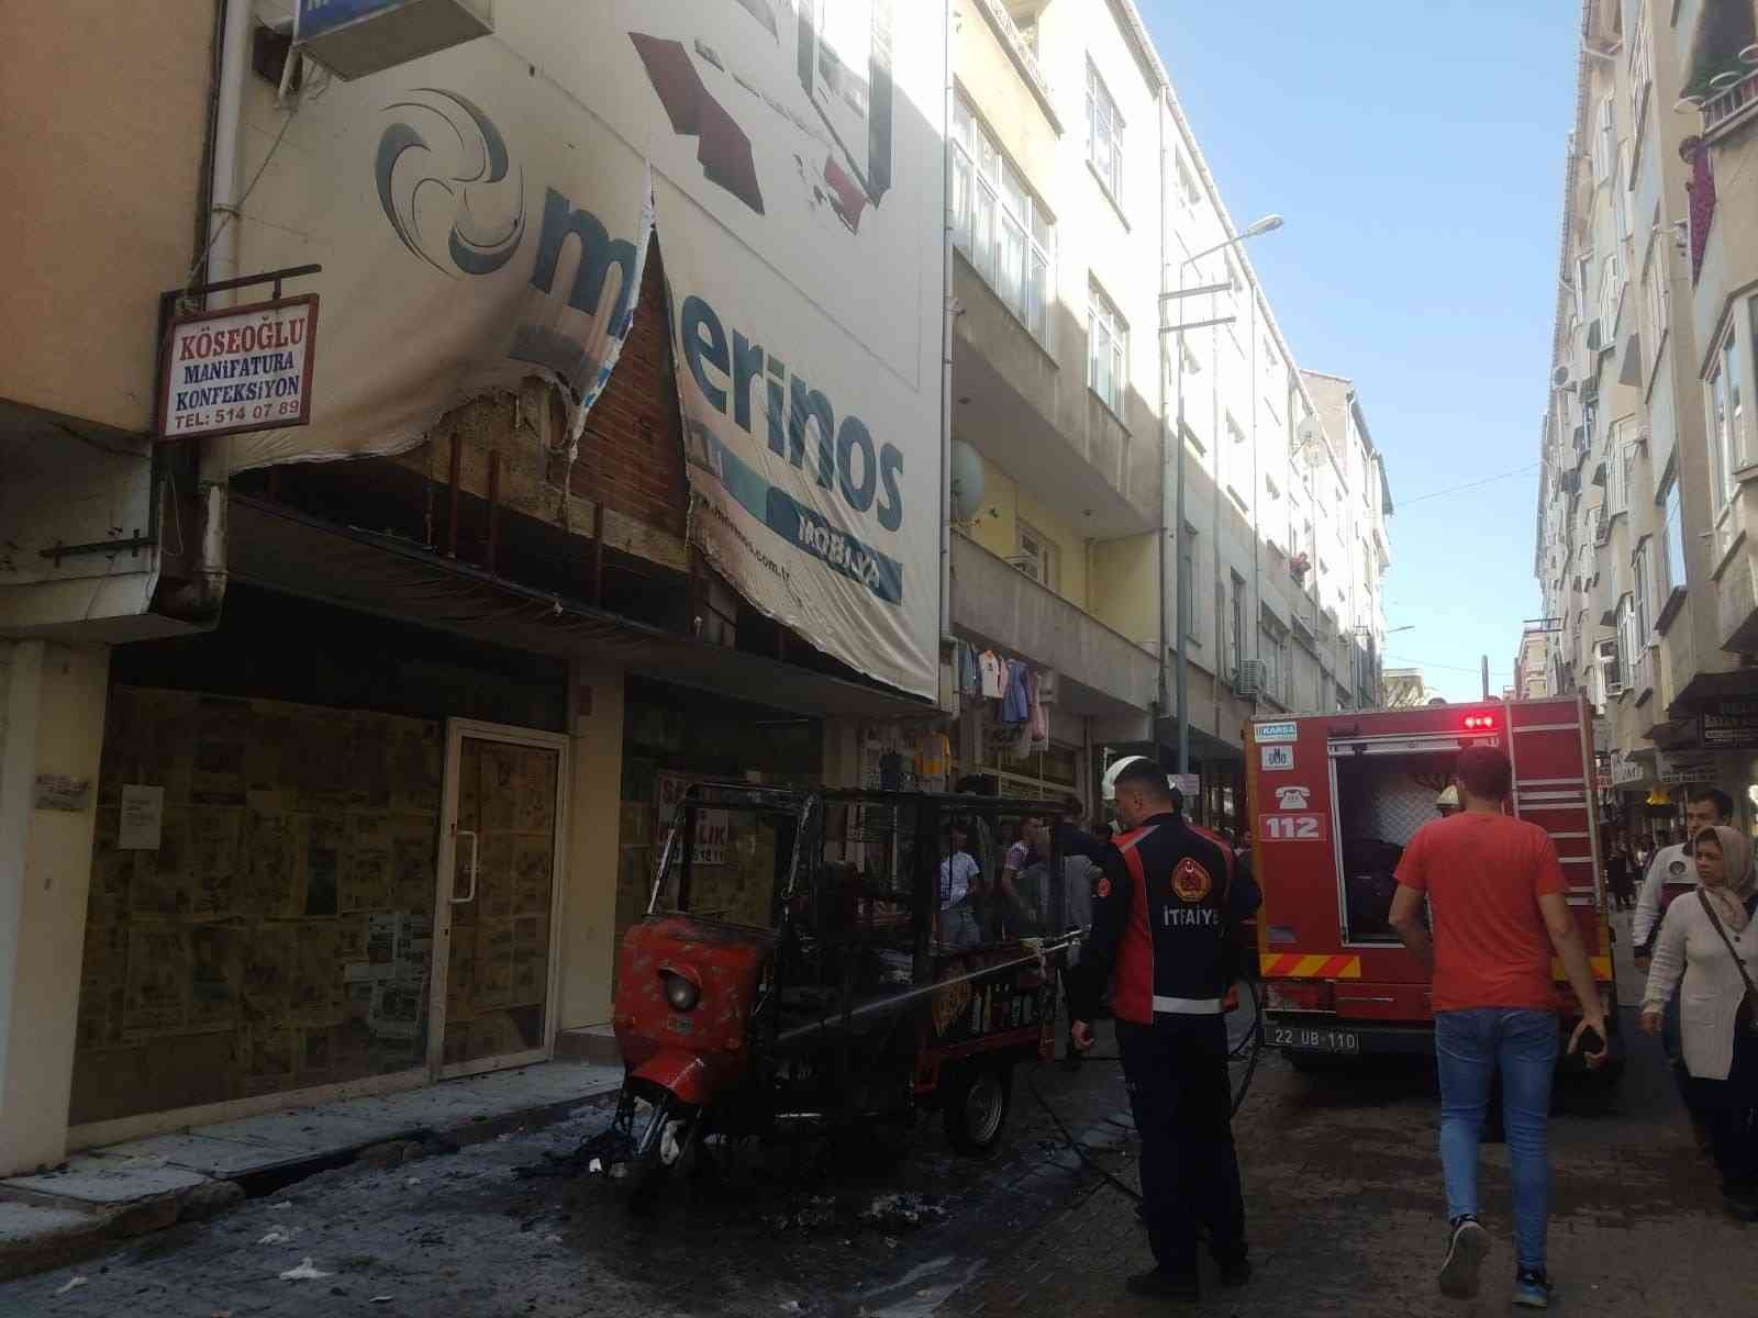
<svg viewBox="0 0 1758 1318">
<path fill-rule="evenodd" d="M 1252 262 L 1296 360 L 1355 380 L 1385 455 L 1385 617 L 1412 627 L 1387 664 L 1464 699 L 1487 652 L 1500 694 L 1542 612 L 1538 420 L 1579 5 L 1139 5 L 1234 220 L 1287 216 Z"/>
</svg>

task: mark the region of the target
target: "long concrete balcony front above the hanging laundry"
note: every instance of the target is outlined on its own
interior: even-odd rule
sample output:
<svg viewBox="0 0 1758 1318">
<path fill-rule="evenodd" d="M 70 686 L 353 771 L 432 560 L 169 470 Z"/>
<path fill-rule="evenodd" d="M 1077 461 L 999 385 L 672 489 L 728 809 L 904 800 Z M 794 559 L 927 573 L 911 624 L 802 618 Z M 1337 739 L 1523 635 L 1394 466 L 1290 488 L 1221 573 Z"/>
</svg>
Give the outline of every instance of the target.
<svg viewBox="0 0 1758 1318">
<path fill-rule="evenodd" d="M 1159 694 L 1151 650 L 962 534 L 953 536 L 953 626 L 976 641 L 1057 670 L 1072 713 L 1143 712 Z"/>
</svg>

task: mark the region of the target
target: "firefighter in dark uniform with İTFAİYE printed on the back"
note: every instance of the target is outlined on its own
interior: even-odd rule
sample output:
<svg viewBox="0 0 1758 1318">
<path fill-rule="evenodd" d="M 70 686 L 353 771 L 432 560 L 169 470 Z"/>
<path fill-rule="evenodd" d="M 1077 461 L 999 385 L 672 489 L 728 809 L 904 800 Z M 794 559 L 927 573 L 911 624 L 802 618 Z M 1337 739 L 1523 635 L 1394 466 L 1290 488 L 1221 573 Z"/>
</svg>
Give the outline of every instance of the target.
<svg viewBox="0 0 1758 1318">
<path fill-rule="evenodd" d="M 1099 995 L 1111 984 L 1155 1260 L 1129 1290 L 1195 1300 L 1202 1227 L 1222 1285 L 1252 1276 L 1222 1002 L 1238 970 L 1234 931 L 1257 910 L 1259 891 L 1234 873 L 1224 845 L 1185 824 L 1159 764 L 1130 763 L 1115 786 L 1127 831 L 1104 852 L 1069 1033 L 1081 1051 L 1092 1047 Z"/>
</svg>

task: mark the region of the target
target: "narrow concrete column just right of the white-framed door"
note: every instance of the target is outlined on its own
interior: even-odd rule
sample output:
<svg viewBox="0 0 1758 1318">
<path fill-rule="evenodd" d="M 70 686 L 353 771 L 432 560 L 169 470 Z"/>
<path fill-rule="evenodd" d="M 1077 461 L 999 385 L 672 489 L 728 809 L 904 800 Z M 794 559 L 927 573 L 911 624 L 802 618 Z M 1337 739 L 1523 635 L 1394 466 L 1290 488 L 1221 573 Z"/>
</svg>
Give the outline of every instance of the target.
<svg viewBox="0 0 1758 1318">
<path fill-rule="evenodd" d="M 568 868 L 561 903 L 557 1028 L 610 1021 L 622 865 L 622 670 L 578 659 L 570 673 Z"/>
</svg>

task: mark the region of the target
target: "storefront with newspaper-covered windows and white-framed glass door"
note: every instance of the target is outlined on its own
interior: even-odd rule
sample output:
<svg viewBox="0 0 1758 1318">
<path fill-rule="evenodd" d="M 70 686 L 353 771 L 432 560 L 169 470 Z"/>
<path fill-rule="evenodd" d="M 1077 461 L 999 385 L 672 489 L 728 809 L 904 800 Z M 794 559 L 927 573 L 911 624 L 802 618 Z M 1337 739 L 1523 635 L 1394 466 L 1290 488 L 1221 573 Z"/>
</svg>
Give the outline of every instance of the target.
<svg viewBox="0 0 1758 1318">
<path fill-rule="evenodd" d="M 234 585 L 116 647 L 70 1125 L 543 1056 L 568 666 Z"/>
</svg>

